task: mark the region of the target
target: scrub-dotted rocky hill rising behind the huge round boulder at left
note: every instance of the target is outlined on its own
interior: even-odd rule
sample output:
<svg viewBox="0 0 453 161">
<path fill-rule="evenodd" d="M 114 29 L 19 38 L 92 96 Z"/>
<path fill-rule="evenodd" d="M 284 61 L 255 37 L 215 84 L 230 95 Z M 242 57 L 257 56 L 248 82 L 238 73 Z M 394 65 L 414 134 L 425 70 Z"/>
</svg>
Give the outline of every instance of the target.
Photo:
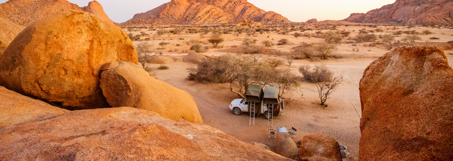
<svg viewBox="0 0 453 161">
<path fill-rule="evenodd" d="M 88 6 L 82 8 L 66 0 L 9 0 L 0 4 L 0 17 L 21 26 L 28 26 L 39 19 L 67 10 L 89 12 L 109 24 L 114 24 L 97 1 L 91 1 Z"/>
</svg>

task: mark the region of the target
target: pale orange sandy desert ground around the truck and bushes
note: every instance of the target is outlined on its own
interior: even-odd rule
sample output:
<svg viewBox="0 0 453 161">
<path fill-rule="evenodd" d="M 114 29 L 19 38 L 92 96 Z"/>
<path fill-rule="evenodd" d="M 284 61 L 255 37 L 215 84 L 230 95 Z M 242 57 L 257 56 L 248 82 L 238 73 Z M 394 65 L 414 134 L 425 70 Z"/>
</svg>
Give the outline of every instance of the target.
<svg viewBox="0 0 453 161">
<path fill-rule="evenodd" d="M 350 30 L 351 36 L 358 34 L 358 30 L 362 28 L 372 29 L 369 27 L 340 27 L 339 29 Z M 381 27 L 384 32 L 393 32 L 395 30 L 385 29 Z M 393 27 L 387 27 L 393 28 Z M 374 28 L 375 29 L 375 28 Z M 418 42 L 447 42 L 453 40 L 452 29 L 438 29 L 438 28 L 424 28 L 424 27 L 413 27 L 404 28 L 399 27 L 397 30 L 417 30 L 422 32 L 425 29 L 429 29 L 435 34 L 420 35 L 422 41 Z M 140 33 L 141 30 L 134 31 L 133 33 Z M 144 31 L 144 30 L 143 30 Z M 314 32 L 314 31 L 306 31 Z M 155 31 L 146 31 L 146 33 L 155 34 Z M 294 32 L 292 32 L 294 33 Z M 375 33 L 379 34 L 379 33 Z M 404 36 L 403 34 L 402 36 Z M 269 36 L 269 38 L 267 37 Z M 396 37 L 396 40 L 402 39 Z M 164 35 L 155 36 L 152 35 L 151 41 L 147 41 L 153 44 L 156 48 L 155 51 L 163 52 L 164 55 L 171 55 L 170 57 L 182 60 L 181 51 L 188 50 L 189 46 L 185 43 L 191 39 L 206 40 L 209 37 L 205 35 L 204 38 L 200 38 L 198 34 L 182 34 L 182 35 Z M 231 46 L 240 46 L 242 40 L 248 36 L 245 34 L 240 36 L 234 36 L 233 34 L 225 35 L 226 41 L 222 44 L 224 48 L 230 48 Z M 439 37 L 440 40 L 430 40 L 429 37 Z M 179 40 L 184 38 L 185 40 Z M 251 37 L 262 40 L 272 40 L 277 42 L 281 38 L 289 39 L 293 45 L 287 46 L 273 46 L 272 49 L 289 52 L 292 47 L 297 46 L 300 42 L 319 42 L 323 41 L 320 38 L 308 38 L 299 37 L 295 38 L 292 35 L 279 35 L 276 33 L 265 33 L 257 34 L 255 37 Z M 155 39 L 155 40 L 153 40 Z M 170 44 L 166 49 L 158 49 L 159 42 L 169 42 Z M 139 43 L 139 42 L 134 42 Z M 177 47 L 175 44 L 180 44 Z M 209 44 L 207 44 L 209 45 Z M 294 63 L 289 67 L 295 73 L 298 73 L 298 67 L 303 64 L 325 64 L 331 68 L 337 75 L 342 75 L 344 78 L 343 84 L 331 95 L 331 98 L 326 102 L 328 107 L 319 105 L 319 98 L 316 90 L 316 86 L 313 83 L 302 82 L 303 97 L 299 101 L 285 101 L 285 109 L 283 115 L 275 117 L 275 127 L 287 127 L 296 128 L 297 140 L 302 139 L 306 134 L 326 134 L 335 138 L 340 144 L 348 147 L 350 156 L 355 159 L 358 158 L 359 152 L 359 140 L 360 140 L 360 117 L 361 117 L 361 104 L 359 95 L 359 81 L 363 76 L 364 70 L 367 66 L 389 52 L 383 46 L 376 47 L 365 47 L 364 44 L 358 44 L 360 49 L 359 52 L 352 51 L 352 44 L 340 44 L 338 49 L 334 51 L 333 55 L 343 55 L 340 59 L 327 59 L 322 61 L 310 61 L 307 59 L 294 60 Z M 175 51 L 176 50 L 176 51 Z M 220 50 L 221 51 L 221 50 Z M 444 51 L 450 62 L 453 62 L 453 51 Z M 203 53 L 206 55 L 220 55 L 227 54 L 225 52 L 219 52 L 219 49 L 210 49 L 208 52 Z M 281 57 L 277 55 L 262 55 L 264 57 Z M 159 64 L 152 64 L 149 73 L 159 80 L 167 82 L 179 89 L 189 92 L 198 104 L 201 117 L 205 124 L 215 127 L 226 134 L 234 136 L 245 142 L 259 142 L 264 143 L 271 147 L 271 150 L 275 150 L 275 141 L 268 140 L 268 129 L 267 119 L 263 115 L 258 116 L 255 119 L 255 126 L 249 126 L 249 113 L 243 113 L 240 116 L 233 115 L 229 109 L 229 104 L 233 99 L 239 98 L 236 94 L 230 92 L 229 84 L 214 84 L 214 83 L 198 83 L 196 81 L 187 80 L 188 71 L 186 70 L 190 66 L 195 64 L 177 61 L 175 63 L 167 64 L 169 70 L 157 70 Z M 452 63 L 450 64 L 452 66 Z M 288 65 L 284 65 L 281 68 L 288 68 Z M 301 75 L 299 73 L 299 75 Z M 301 75 L 302 76 L 302 75 Z M 298 98 L 296 95 L 293 98 Z M 349 157 L 350 157 L 349 156 Z M 349 159 L 344 159 L 348 161 Z"/>
</svg>

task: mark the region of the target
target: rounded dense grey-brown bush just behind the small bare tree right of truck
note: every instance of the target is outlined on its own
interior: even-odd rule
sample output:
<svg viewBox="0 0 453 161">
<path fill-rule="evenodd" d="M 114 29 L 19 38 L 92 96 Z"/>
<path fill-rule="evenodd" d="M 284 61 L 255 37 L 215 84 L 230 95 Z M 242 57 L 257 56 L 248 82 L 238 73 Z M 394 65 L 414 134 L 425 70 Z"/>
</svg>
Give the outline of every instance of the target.
<svg viewBox="0 0 453 161">
<path fill-rule="evenodd" d="M 325 65 L 315 65 L 313 70 L 310 70 L 310 65 L 302 65 L 299 67 L 299 72 L 304 75 L 304 80 L 312 83 L 332 81 L 334 72 Z"/>
</svg>

